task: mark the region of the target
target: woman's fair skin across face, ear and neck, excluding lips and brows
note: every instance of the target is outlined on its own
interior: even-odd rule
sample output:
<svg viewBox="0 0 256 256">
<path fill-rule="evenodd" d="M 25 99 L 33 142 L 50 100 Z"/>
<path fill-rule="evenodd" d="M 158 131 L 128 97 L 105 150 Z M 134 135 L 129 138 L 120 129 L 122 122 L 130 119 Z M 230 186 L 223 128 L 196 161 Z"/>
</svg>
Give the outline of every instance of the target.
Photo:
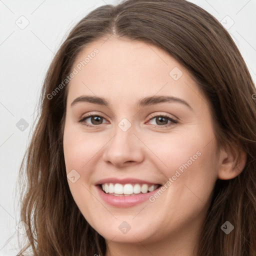
<svg viewBox="0 0 256 256">
<path fill-rule="evenodd" d="M 111 36 L 86 46 L 73 63 L 99 52 L 69 82 L 63 148 L 66 173 L 75 169 L 80 177 L 68 184 L 88 223 L 107 242 L 109 255 L 196 255 L 198 236 L 217 178 L 237 176 L 245 165 L 242 154 L 238 168 L 233 153 L 216 145 L 207 100 L 190 74 L 167 52 L 154 45 Z M 174 80 L 169 72 L 182 71 Z M 104 97 L 109 106 L 71 102 L 82 95 Z M 137 107 L 145 96 L 169 95 L 185 100 Z M 103 115 L 94 124 L 86 113 Z M 162 127 L 151 114 L 178 120 Z M 127 131 L 118 127 L 126 118 Z M 171 123 L 166 121 L 163 124 Z M 164 184 L 197 151 L 201 154 L 155 199 L 129 208 L 104 202 L 95 183 L 107 177 L 139 178 Z M 219 154 L 218 154 L 219 153 Z M 122 233 L 118 226 L 130 226 Z M 194 253 L 193 250 L 195 249 Z M 95 252 L 96 253 L 96 252 Z"/>
</svg>

